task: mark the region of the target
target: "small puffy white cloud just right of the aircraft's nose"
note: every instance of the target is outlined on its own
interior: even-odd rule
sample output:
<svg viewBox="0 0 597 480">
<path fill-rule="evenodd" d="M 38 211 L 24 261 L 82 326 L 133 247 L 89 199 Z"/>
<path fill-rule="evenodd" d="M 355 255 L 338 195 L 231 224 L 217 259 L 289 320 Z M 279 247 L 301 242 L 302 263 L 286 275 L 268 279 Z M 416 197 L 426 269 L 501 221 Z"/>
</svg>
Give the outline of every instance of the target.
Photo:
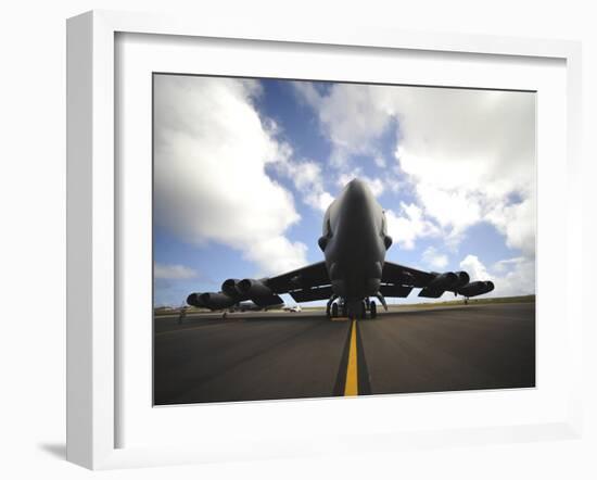
<svg viewBox="0 0 597 480">
<path fill-rule="evenodd" d="M 423 212 L 414 203 L 401 202 L 401 214 L 393 211 L 385 211 L 388 222 L 388 235 L 394 243 L 405 250 L 412 250 L 418 238 L 436 236 L 439 228 L 423 217 Z"/>
</svg>

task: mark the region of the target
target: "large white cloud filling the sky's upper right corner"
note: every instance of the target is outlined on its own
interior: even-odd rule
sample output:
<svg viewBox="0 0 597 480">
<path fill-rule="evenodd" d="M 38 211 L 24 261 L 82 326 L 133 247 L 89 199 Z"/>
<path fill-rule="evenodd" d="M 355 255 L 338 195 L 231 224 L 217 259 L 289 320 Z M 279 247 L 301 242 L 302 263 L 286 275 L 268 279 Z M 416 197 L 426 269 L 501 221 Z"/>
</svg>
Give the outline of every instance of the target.
<svg viewBox="0 0 597 480">
<path fill-rule="evenodd" d="M 425 213 L 453 236 L 487 220 L 508 247 L 532 254 L 534 94 L 418 89 L 412 96 L 399 105 L 396 159 Z M 510 202 L 513 194 L 520 201 Z"/>
</svg>

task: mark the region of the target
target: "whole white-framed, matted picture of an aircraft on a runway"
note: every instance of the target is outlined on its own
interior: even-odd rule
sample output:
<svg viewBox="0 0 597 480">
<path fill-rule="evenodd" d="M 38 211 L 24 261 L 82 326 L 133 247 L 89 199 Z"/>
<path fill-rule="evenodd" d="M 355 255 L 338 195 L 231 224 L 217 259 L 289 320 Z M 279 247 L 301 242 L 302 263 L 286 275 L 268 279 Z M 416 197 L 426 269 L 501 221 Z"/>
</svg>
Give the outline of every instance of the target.
<svg viewBox="0 0 597 480">
<path fill-rule="evenodd" d="M 67 29 L 69 460 L 579 435 L 576 43 Z"/>
</svg>

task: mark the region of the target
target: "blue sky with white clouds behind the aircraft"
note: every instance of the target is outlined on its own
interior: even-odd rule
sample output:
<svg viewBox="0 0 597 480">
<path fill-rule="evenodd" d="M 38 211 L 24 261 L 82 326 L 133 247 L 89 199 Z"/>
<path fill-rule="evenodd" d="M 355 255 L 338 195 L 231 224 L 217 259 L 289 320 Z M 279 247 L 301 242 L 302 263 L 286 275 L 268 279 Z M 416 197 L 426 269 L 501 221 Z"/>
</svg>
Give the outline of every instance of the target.
<svg viewBox="0 0 597 480">
<path fill-rule="evenodd" d="M 535 292 L 535 93 L 161 74 L 153 96 L 154 305 L 323 260 L 355 177 L 386 260 Z"/>
</svg>

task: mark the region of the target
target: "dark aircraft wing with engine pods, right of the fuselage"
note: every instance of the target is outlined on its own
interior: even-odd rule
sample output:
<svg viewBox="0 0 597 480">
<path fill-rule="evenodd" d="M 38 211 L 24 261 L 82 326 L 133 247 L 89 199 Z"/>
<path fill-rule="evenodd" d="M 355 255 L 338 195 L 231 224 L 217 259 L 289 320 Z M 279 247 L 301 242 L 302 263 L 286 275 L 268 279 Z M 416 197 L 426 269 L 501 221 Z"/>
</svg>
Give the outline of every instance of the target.
<svg viewBox="0 0 597 480">
<path fill-rule="evenodd" d="M 466 271 L 422 271 L 392 262 L 383 264 L 380 293 L 384 296 L 408 296 L 414 288 L 420 288 L 419 296 L 439 299 L 444 292 L 463 296 L 477 296 L 491 292 L 491 281 L 470 282 Z"/>
</svg>

